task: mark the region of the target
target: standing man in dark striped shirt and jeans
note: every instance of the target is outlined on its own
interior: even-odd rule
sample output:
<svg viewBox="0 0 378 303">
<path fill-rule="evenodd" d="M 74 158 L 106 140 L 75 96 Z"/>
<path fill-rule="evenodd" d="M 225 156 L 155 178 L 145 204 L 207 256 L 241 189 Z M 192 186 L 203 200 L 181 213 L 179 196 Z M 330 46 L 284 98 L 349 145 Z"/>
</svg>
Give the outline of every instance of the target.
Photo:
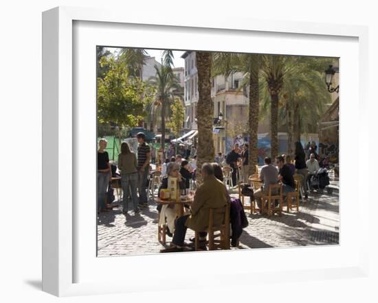
<svg viewBox="0 0 378 303">
<path fill-rule="evenodd" d="M 138 157 L 138 189 L 139 189 L 139 205 L 147 206 L 147 179 L 148 169 L 150 167 L 151 149 L 146 144 L 146 135 L 143 132 L 137 133 L 137 141 L 139 143 L 137 148 Z"/>
</svg>

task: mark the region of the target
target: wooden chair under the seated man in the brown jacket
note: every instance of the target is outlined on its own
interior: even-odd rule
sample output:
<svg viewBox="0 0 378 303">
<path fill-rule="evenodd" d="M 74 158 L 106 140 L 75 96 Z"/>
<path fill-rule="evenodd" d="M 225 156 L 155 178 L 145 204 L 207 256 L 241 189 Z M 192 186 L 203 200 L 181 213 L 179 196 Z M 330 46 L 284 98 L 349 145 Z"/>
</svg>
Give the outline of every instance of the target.
<svg viewBox="0 0 378 303">
<path fill-rule="evenodd" d="M 214 226 L 214 214 L 223 213 L 224 219 L 220 226 Z M 209 250 L 230 250 L 230 203 L 224 208 L 210 208 L 209 224 L 205 232 L 208 233 Z M 219 233 L 216 233 L 219 232 Z M 218 239 L 219 238 L 219 239 Z M 199 232 L 195 232 L 195 250 L 199 250 Z"/>
</svg>

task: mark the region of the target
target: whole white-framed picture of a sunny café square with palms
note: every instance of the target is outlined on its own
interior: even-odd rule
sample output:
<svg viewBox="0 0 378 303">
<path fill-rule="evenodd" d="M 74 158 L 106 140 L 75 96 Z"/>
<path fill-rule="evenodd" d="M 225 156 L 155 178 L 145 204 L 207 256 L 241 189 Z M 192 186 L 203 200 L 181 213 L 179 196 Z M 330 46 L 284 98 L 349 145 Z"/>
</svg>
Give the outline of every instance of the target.
<svg viewBox="0 0 378 303">
<path fill-rule="evenodd" d="M 43 290 L 366 276 L 367 39 L 351 25 L 43 12 Z"/>
</svg>

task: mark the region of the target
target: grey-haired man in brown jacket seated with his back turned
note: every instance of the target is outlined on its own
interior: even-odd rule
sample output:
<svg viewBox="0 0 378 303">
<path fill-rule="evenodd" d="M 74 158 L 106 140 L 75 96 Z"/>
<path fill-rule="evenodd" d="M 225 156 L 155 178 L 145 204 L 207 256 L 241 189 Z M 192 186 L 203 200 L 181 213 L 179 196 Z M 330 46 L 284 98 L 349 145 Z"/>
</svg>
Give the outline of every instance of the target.
<svg viewBox="0 0 378 303">
<path fill-rule="evenodd" d="M 176 220 L 171 247 L 161 252 L 182 252 L 187 228 L 199 232 L 202 239 L 206 237 L 209 208 L 223 208 L 227 205 L 227 190 L 225 185 L 215 178 L 214 167 L 210 163 L 203 163 L 201 170 L 203 183 L 194 195 L 194 202 L 190 208 L 191 214 Z M 223 223 L 223 217 L 223 214 L 214 215 L 214 226 Z"/>
</svg>

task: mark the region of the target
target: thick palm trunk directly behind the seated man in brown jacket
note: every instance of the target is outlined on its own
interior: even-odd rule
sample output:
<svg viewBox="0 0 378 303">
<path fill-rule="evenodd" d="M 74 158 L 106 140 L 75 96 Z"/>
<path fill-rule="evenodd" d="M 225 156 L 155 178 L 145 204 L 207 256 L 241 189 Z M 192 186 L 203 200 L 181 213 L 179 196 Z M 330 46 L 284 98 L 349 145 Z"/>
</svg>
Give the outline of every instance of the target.
<svg viewBox="0 0 378 303">
<path fill-rule="evenodd" d="M 212 140 L 212 99 L 211 99 L 211 62 L 212 55 L 208 51 L 198 51 L 198 149 L 197 149 L 197 180 L 202 182 L 201 166 L 204 162 L 214 161 L 214 144 Z"/>
</svg>

